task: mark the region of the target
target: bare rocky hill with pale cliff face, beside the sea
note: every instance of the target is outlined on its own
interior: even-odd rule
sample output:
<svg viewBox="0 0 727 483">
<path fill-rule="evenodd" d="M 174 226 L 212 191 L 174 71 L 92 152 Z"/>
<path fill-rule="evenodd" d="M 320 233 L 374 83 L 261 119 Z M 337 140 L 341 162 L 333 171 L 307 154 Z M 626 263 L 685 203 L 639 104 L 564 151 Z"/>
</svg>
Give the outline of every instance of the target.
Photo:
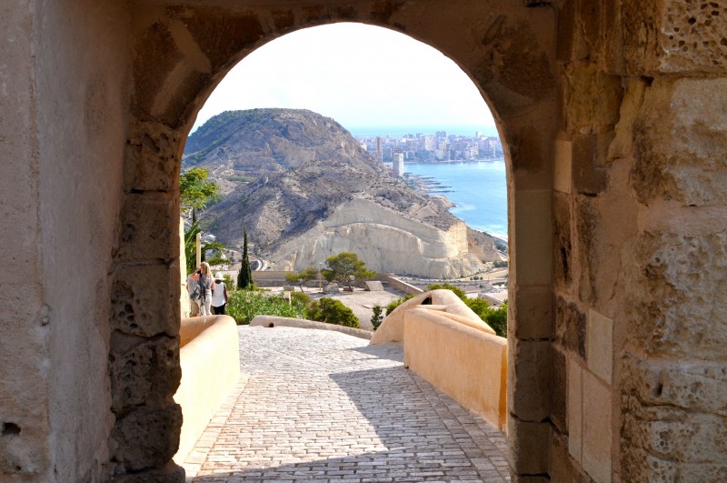
<svg viewBox="0 0 727 483">
<path fill-rule="evenodd" d="M 454 277 L 498 259 L 489 236 L 468 236 L 446 199 L 394 179 L 344 127 L 311 111 L 215 116 L 189 136 L 183 166 L 207 168 L 222 187 L 201 216 L 206 230 L 237 247 L 245 228 L 276 269 L 353 251 L 375 270 Z"/>
</svg>

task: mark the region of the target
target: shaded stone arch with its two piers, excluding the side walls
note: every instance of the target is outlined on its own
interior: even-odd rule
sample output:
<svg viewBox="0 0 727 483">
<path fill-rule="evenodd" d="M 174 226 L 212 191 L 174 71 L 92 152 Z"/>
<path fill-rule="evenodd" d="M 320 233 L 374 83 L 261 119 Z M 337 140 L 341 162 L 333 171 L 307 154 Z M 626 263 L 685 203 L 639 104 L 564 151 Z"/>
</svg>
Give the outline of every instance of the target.
<svg viewBox="0 0 727 483">
<path fill-rule="evenodd" d="M 123 228 L 115 256 L 113 297 L 120 299 L 123 292 L 135 293 L 134 281 L 161 277 L 164 272 L 171 277 L 174 272 L 174 216 L 178 213 L 175 186 L 180 153 L 194 113 L 222 76 L 244 55 L 279 35 L 307 26 L 360 21 L 393 28 L 439 48 L 463 67 L 493 106 L 510 160 L 511 277 L 515 283 L 511 307 L 516 321 L 511 351 L 517 356 L 523 351 L 532 354 L 541 350 L 543 342 L 531 343 L 531 336 L 526 334 L 542 331 L 538 327 L 552 326 L 552 174 L 547 159 L 551 151 L 548 140 L 553 137 L 558 118 L 554 45 L 550 35 L 554 16 L 550 10 L 493 4 L 476 8 L 468 5 L 466 9 L 445 12 L 433 4 L 413 8 L 399 2 L 270 9 L 190 6 L 137 10 L 129 129 L 132 134 L 124 163 L 127 176 Z M 466 25 L 467 15 L 481 15 L 483 22 L 469 35 L 453 42 L 449 29 L 459 30 Z M 139 258 L 136 254 L 144 256 Z M 159 261 L 150 266 L 152 259 Z M 529 313 L 519 311 L 521 299 L 528 300 Z M 112 455 L 112 461 L 124 470 L 161 468 L 174 453 L 174 427 L 179 425 L 178 409 L 170 404 L 179 377 L 174 351 L 174 314 L 178 312 L 166 302 L 164 307 L 132 307 L 131 313 L 127 308 L 124 304 L 112 318 L 113 394 L 135 391 L 136 382 L 119 374 L 125 374 L 125 367 L 137 357 L 137 347 L 168 357 L 155 359 L 156 364 L 146 372 L 146 380 L 164 381 L 163 385 L 154 384 L 149 389 L 154 394 L 139 394 L 139 399 L 115 405 L 112 446 L 121 449 Z M 129 323 L 132 319 L 134 322 Z M 148 323 L 139 324 L 140 319 Z M 136 342 L 129 349 L 123 341 L 131 336 L 144 337 L 144 342 Z M 520 366 L 516 362 L 511 369 L 511 433 L 517 445 L 523 424 L 547 426 L 543 423 L 547 400 L 533 401 L 530 379 L 519 377 Z M 542 372 L 536 377 L 543 381 L 548 377 L 544 369 L 536 369 Z M 543 387 L 543 382 L 538 381 L 535 387 Z M 521 394 L 529 395 L 527 402 L 522 401 Z M 541 390 L 539 396 L 545 395 Z M 142 399 L 144 403 L 139 405 Z M 537 409 L 533 412 L 530 408 Z M 136 421 L 144 421 L 143 430 Z M 144 451 L 137 455 L 124 449 L 138 447 L 140 443 Z M 545 439 L 540 443 L 543 447 L 548 444 Z M 517 470 L 517 459 L 514 464 Z M 539 468 L 536 472 L 545 471 L 546 468 Z"/>
</svg>

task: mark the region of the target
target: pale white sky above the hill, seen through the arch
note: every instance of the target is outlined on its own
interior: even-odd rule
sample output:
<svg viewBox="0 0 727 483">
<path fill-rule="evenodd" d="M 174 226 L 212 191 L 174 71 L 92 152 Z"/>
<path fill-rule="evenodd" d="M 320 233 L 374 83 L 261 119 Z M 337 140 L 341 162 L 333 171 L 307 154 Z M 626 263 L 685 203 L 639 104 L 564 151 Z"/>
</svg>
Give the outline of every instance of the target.
<svg viewBox="0 0 727 483">
<path fill-rule="evenodd" d="M 427 128 L 497 134 L 482 96 L 451 59 L 407 35 L 371 25 L 316 26 L 263 45 L 214 89 L 193 131 L 225 110 L 255 107 L 310 109 L 333 117 L 354 135 L 426 133 Z"/>
</svg>

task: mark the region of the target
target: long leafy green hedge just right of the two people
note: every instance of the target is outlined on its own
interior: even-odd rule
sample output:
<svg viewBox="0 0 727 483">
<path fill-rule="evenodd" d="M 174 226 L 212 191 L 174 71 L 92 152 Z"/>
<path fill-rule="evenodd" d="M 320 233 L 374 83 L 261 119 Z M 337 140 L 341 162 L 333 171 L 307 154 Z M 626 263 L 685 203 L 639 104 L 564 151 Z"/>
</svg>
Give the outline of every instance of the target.
<svg viewBox="0 0 727 483">
<path fill-rule="evenodd" d="M 303 317 L 305 305 L 297 300 L 288 302 L 284 297 L 264 296 L 254 290 L 228 292 L 227 315 L 238 326 L 248 325 L 255 316 Z"/>
</svg>

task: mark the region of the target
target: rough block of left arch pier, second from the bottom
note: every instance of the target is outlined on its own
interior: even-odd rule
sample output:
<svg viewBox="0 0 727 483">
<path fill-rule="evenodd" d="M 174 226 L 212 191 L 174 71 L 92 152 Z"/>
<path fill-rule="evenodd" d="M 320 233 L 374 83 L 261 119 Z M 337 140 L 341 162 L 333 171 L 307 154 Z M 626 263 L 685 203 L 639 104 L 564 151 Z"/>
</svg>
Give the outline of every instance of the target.
<svg viewBox="0 0 727 483">
<path fill-rule="evenodd" d="M 163 407 L 182 378 L 179 338 L 142 338 L 115 331 L 108 365 L 115 414 L 141 405 Z"/>
</svg>

